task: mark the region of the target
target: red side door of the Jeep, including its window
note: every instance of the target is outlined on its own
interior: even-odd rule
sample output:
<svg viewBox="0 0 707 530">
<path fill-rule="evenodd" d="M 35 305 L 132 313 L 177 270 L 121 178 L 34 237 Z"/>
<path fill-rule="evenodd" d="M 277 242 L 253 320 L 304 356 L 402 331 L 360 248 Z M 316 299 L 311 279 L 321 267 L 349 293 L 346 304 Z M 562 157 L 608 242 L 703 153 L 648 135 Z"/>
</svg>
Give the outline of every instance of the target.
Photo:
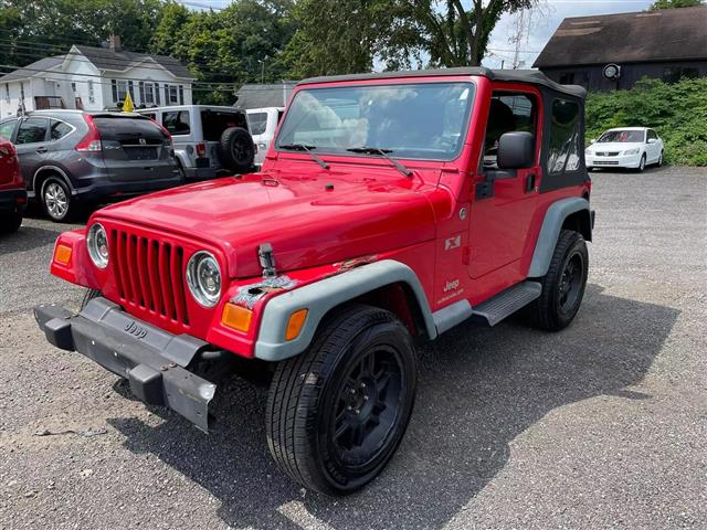
<svg viewBox="0 0 707 530">
<path fill-rule="evenodd" d="M 476 184 L 469 212 L 468 274 L 473 279 L 519 266 L 538 197 L 541 105 L 540 94 L 532 89 L 495 89 L 492 94 L 479 169 L 483 181 Z M 535 161 L 528 168 L 498 169 L 498 139 L 516 130 L 534 134 Z M 510 276 L 499 277 L 508 282 Z"/>
</svg>

